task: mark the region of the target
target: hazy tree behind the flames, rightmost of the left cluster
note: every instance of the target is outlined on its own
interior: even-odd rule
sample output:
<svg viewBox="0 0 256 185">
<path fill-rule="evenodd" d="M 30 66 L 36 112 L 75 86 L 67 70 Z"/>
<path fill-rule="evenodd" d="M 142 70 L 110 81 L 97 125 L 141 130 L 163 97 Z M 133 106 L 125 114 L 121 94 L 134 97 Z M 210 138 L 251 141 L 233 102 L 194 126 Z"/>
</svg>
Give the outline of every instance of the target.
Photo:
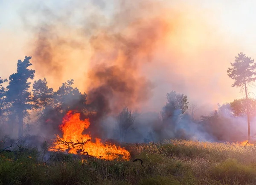
<svg viewBox="0 0 256 185">
<path fill-rule="evenodd" d="M 55 94 L 55 103 L 61 108 L 61 110 L 82 110 L 86 104 L 87 94 L 81 94 L 79 89 L 73 88 L 74 80 L 67 80 L 66 83 L 62 83 L 58 91 Z"/>
</svg>

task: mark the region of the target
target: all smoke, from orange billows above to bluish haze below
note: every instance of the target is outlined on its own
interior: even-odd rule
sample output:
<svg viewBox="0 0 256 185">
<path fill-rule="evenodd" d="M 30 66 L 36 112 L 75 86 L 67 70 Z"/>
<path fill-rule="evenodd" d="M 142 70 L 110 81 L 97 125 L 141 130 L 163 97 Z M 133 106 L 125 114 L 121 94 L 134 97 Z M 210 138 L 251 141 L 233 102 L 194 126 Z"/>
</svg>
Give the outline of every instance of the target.
<svg viewBox="0 0 256 185">
<path fill-rule="evenodd" d="M 231 88 L 226 70 L 244 47 L 220 28 L 220 19 L 214 12 L 198 11 L 196 3 L 26 1 L 20 7 L 21 31 L 26 32 L 26 39 L 21 39 L 23 55 L 32 56 L 36 79 L 46 77 L 54 89 L 74 79 L 96 111 L 90 126 L 92 135 L 118 139 L 112 130 L 116 128 L 115 116 L 124 106 L 159 112 L 166 93 L 172 90 L 198 103 L 201 109 L 197 117 L 212 111 L 212 104 L 239 96 L 238 89 Z M 7 40 L 15 43 L 11 38 L 12 35 Z M 5 47 L 3 58 L 10 52 Z M 16 62 L 10 56 L 9 60 Z M 159 115 L 153 115 L 137 117 L 127 141 L 171 137 L 223 140 L 191 117 L 177 113 L 177 120 L 162 125 Z M 232 119 L 228 118 L 234 122 Z"/>
</svg>

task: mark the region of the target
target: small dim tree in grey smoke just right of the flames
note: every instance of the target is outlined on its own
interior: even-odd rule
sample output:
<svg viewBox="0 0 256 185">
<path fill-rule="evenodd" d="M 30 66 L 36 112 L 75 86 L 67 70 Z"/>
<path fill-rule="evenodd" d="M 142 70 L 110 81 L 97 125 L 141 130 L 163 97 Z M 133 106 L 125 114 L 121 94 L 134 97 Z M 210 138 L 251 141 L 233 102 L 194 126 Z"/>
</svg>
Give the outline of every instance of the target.
<svg viewBox="0 0 256 185">
<path fill-rule="evenodd" d="M 134 125 L 135 117 L 132 115 L 128 108 L 123 108 L 123 110 L 116 117 L 117 124 L 119 127 L 120 137 L 122 141 L 125 141 L 125 137 L 129 129 Z"/>
</svg>

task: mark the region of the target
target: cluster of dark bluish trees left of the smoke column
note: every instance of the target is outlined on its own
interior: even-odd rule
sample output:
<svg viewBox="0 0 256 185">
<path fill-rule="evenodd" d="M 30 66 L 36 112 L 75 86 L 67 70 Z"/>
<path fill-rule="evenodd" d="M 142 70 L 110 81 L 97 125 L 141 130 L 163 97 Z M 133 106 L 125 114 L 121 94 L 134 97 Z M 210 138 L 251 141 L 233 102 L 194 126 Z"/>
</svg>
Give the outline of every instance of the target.
<svg viewBox="0 0 256 185">
<path fill-rule="evenodd" d="M 36 111 L 41 122 L 59 123 L 58 118 L 71 109 L 83 110 L 86 108 L 87 95 L 74 88 L 74 80 L 62 83 L 57 91 L 47 86 L 47 80 L 35 80 L 32 91 L 29 91 L 35 77 L 35 70 L 29 69 L 31 57 L 18 60 L 17 72 L 9 76 L 9 80 L 0 77 L 0 119 L 13 130 L 18 122 L 18 137 L 23 136 L 25 119 L 29 119 L 31 110 Z M 6 88 L 3 83 L 8 82 Z M 52 119 L 51 119 L 52 118 Z M 51 119 L 51 120 L 50 120 Z"/>
</svg>

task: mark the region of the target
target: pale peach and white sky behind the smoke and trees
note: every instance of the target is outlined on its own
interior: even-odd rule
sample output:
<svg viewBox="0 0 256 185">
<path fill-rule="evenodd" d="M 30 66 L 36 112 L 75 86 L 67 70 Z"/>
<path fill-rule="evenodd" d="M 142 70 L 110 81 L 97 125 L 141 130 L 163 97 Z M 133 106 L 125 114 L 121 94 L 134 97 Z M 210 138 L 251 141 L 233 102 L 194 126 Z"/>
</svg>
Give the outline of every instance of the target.
<svg viewBox="0 0 256 185">
<path fill-rule="evenodd" d="M 256 1 L 142 1 L 149 7 L 151 4 L 156 6 L 154 12 L 150 12 L 147 7 L 137 6 L 138 1 L 132 0 L 132 5 L 127 6 L 127 13 L 129 8 L 136 9 L 132 11 L 145 20 L 151 20 L 150 17 L 154 15 L 160 16 L 169 21 L 168 27 L 171 30 L 165 37 L 160 38 L 161 45 L 154 48 L 152 62 L 140 66 L 139 73 L 154 83 L 151 98 L 141 105 L 143 109 L 160 110 L 166 102 L 166 94 L 172 90 L 186 94 L 190 102 L 195 102 L 202 109 L 213 108 L 218 103 L 243 97 L 239 88 L 231 87 L 233 80 L 227 76 L 227 68 L 240 52 L 256 59 Z M 55 74 L 49 73 L 52 69 L 42 68 L 42 65 L 33 60 L 32 50 L 35 47 L 38 25 L 42 22 L 50 25 L 58 23 L 58 19 L 52 20 L 48 13 L 38 12 L 45 7 L 54 12 L 56 17 L 63 16 L 63 12 L 71 12 L 70 17 L 65 17 L 68 23 L 61 20 L 61 24 L 57 24 L 54 31 L 58 33 L 58 37 L 81 41 L 84 37 L 76 35 L 81 21 L 85 25 L 108 24 L 111 22 L 108 20 L 113 19 L 111 16 L 120 11 L 122 6 L 116 6 L 115 0 L 70 2 L 0 0 L 0 77 L 8 78 L 16 71 L 17 60 L 31 55 L 36 70 L 35 80 L 47 77 L 49 85 L 56 89 L 62 82 L 73 78 L 81 91 L 87 91 L 86 74 L 91 66 L 89 58 L 92 56 L 90 49 L 56 49 L 56 59 L 64 55 L 69 61 L 61 64 L 64 67 L 57 80 L 56 76 L 53 77 Z M 83 3 L 79 4 L 81 2 Z M 89 15 L 96 17 L 93 19 L 95 21 Z M 129 16 L 132 20 L 136 19 L 135 15 L 127 14 Z M 113 30 L 127 26 L 125 23 L 122 25 L 122 21 L 118 24 L 119 26 L 112 26 Z M 85 48 L 87 41 L 83 40 Z M 256 89 L 250 91 L 256 94 Z"/>
</svg>

